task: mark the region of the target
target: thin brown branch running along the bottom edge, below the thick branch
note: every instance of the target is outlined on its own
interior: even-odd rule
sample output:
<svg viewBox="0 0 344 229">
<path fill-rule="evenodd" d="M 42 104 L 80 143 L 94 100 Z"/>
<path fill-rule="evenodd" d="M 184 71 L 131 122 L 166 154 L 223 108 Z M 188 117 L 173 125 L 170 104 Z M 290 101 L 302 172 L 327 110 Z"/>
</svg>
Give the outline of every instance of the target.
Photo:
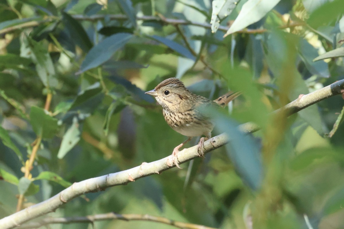
<svg viewBox="0 0 344 229">
<path fill-rule="evenodd" d="M 24 224 L 18 229 L 39 228 L 39 227 L 49 225 L 49 224 L 72 224 L 72 223 L 82 223 L 82 222 L 93 223 L 95 221 L 111 220 L 111 219 L 119 219 L 119 220 L 125 220 L 125 221 L 143 220 L 143 221 L 160 222 L 162 224 L 167 224 L 167 225 L 175 226 L 178 228 L 186 228 L 186 229 L 215 229 L 215 228 L 206 227 L 203 225 L 174 221 L 174 220 L 167 219 L 164 217 L 141 215 L 141 214 L 116 214 L 113 212 L 106 213 L 106 214 L 97 214 L 97 215 L 92 215 L 92 216 L 82 216 L 82 217 L 65 217 L 65 218 L 64 217 L 61 217 L 61 218 L 48 217 L 37 222 L 30 222 L 30 223 Z"/>
</svg>

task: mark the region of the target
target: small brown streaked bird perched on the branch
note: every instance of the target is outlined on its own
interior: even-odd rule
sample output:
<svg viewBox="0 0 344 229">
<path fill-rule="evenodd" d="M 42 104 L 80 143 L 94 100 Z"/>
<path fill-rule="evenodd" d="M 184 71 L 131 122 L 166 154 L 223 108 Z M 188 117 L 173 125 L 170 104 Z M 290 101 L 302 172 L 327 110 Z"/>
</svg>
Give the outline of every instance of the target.
<svg viewBox="0 0 344 229">
<path fill-rule="evenodd" d="M 159 83 L 153 90 L 147 91 L 146 94 L 154 96 L 162 106 L 162 114 L 167 124 L 178 133 L 188 137 L 187 140 L 173 149 L 172 161 L 180 168 L 178 164 L 179 148 L 193 137 L 204 135 L 205 138 L 202 137 L 197 146 L 198 154 L 203 157 L 204 141 L 211 138 L 214 124 L 210 117 L 202 114 L 201 111 L 212 105 L 225 106 L 239 96 L 240 92 L 228 92 L 211 101 L 187 90 L 179 79 L 169 78 Z"/>
</svg>

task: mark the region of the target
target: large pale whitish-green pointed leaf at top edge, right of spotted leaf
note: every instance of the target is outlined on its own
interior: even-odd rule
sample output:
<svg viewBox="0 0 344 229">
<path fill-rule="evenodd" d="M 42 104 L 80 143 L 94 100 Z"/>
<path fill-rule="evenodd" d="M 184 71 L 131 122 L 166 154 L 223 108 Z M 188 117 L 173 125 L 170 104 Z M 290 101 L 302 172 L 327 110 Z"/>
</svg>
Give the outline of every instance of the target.
<svg viewBox="0 0 344 229">
<path fill-rule="evenodd" d="M 262 19 L 280 0 L 248 0 L 244 3 L 238 17 L 235 19 L 225 36 L 246 28 Z"/>
</svg>

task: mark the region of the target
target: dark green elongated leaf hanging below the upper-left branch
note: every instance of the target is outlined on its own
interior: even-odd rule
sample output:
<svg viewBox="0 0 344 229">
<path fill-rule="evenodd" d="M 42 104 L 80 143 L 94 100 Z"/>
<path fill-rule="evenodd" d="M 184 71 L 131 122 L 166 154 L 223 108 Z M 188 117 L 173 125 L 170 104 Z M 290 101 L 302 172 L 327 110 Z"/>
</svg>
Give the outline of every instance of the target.
<svg viewBox="0 0 344 229">
<path fill-rule="evenodd" d="M 62 22 L 66 26 L 73 42 L 87 53 L 92 48 L 93 44 L 88 38 L 84 27 L 77 20 L 72 18 L 71 15 L 65 12 L 62 13 Z"/>
</svg>

